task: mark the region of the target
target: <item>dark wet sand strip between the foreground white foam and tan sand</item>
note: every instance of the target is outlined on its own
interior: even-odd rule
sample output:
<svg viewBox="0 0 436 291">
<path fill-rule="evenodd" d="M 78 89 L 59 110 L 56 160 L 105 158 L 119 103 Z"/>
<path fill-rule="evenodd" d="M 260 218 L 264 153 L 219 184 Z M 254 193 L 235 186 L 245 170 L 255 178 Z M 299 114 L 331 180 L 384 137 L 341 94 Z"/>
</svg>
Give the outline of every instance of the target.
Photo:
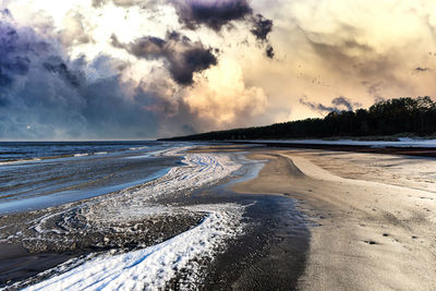
<svg viewBox="0 0 436 291">
<path fill-rule="evenodd" d="M 240 195 L 231 190 L 232 184 L 193 196 L 195 203 L 249 205 L 244 234 L 214 258 L 195 290 L 295 290 L 310 242 L 310 222 L 298 209 L 298 202 L 278 195 Z"/>
</svg>

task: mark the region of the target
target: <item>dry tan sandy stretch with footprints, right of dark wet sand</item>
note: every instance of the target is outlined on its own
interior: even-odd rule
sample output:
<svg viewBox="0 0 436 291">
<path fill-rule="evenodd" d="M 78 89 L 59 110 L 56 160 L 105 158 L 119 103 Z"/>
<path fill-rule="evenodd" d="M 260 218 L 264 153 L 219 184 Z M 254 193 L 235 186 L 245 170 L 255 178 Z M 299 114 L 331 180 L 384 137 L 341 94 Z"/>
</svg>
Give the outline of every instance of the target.
<svg viewBox="0 0 436 291">
<path fill-rule="evenodd" d="M 434 159 L 253 150 L 267 160 L 239 193 L 286 195 L 314 219 L 302 290 L 435 290 Z"/>
</svg>

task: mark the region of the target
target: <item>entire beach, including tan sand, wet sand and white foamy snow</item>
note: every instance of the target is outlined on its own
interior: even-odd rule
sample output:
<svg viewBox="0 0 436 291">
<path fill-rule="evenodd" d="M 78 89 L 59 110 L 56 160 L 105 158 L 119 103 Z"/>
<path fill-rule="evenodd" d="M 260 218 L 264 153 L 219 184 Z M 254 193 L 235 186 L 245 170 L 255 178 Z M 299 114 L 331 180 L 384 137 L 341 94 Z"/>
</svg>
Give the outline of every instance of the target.
<svg viewBox="0 0 436 291">
<path fill-rule="evenodd" d="M 142 184 L 0 217 L 2 287 L 436 288 L 432 158 L 240 144 L 149 155 L 181 162 Z"/>
</svg>

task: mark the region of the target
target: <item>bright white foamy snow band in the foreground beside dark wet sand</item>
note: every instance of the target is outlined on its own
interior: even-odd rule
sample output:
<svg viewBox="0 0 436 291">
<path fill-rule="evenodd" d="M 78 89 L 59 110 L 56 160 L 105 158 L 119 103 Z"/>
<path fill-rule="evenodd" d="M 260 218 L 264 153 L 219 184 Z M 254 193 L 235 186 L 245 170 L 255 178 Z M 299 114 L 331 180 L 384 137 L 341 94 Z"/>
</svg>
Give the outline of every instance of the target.
<svg viewBox="0 0 436 291">
<path fill-rule="evenodd" d="M 244 208 L 237 204 L 186 207 L 206 211 L 197 227 L 164 243 L 126 254 L 94 258 L 25 290 L 161 290 L 184 271 L 181 289 L 201 281 L 202 259 L 214 259 L 229 239 L 243 232 Z"/>
</svg>

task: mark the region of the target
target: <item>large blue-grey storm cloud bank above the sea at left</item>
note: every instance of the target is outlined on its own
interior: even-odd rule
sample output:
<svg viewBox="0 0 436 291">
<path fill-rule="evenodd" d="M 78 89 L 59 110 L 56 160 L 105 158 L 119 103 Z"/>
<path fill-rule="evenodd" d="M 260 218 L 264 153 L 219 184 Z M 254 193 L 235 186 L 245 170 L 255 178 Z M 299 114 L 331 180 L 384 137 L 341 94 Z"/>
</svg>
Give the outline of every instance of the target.
<svg viewBox="0 0 436 291">
<path fill-rule="evenodd" d="M 107 73 L 111 59 L 71 61 L 56 39 L 0 22 L 0 138 L 157 135 L 158 120 L 143 107 L 159 96 L 138 88 L 132 94 L 116 70 L 111 76 L 86 80 L 87 69 Z"/>
</svg>

